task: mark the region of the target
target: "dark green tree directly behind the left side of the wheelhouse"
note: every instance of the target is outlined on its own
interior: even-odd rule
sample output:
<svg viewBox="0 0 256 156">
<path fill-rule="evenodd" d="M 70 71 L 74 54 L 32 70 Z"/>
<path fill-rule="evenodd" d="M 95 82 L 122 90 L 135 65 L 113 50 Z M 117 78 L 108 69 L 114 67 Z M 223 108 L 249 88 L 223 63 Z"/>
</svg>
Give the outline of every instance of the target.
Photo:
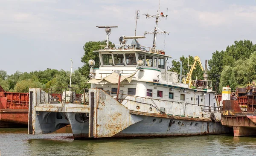
<svg viewBox="0 0 256 156">
<path fill-rule="evenodd" d="M 90 74 L 90 66 L 88 65 L 89 60 L 94 60 L 95 61 L 95 66 L 94 68 L 99 68 L 99 53 L 98 52 L 93 52 L 96 50 L 99 50 L 101 47 L 100 45 L 105 45 L 106 40 L 103 41 L 89 41 L 86 42 L 83 46 L 84 48 L 84 55 L 81 58 L 81 62 L 84 63 L 84 65 L 79 68 L 79 71 L 81 72 L 82 75 L 88 77 Z M 113 44 L 112 42 L 109 42 L 109 44 Z M 89 78 L 89 77 L 88 77 Z"/>
</svg>

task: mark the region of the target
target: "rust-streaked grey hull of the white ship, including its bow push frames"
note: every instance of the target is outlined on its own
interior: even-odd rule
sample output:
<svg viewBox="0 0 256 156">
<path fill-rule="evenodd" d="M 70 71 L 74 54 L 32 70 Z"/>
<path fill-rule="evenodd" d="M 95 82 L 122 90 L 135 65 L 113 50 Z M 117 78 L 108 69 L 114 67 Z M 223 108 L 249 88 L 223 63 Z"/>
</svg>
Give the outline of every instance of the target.
<svg viewBox="0 0 256 156">
<path fill-rule="evenodd" d="M 88 104 L 51 104 L 49 101 L 40 102 L 41 89 L 30 89 L 28 133 L 52 133 L 67 124 L 71 125 L 74 139 L 192 136 L 229 132 L 220 121 L 213 122 L 207 114 L 204 118 L 192 118 L 134 111 L 101 89 L 90 89 L 88 94 Z"/>
</svg>

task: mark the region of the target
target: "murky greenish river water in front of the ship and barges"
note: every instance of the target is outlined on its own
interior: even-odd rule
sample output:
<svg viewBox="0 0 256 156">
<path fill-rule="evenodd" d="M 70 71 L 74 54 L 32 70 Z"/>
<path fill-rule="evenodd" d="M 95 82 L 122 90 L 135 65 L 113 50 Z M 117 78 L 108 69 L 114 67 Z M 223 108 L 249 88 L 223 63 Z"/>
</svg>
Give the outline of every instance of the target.
<svg viewBox="0 0 256 156">
<path fill-rule="evenodd" d="M 230 156 L 256 154 L 256 137 L 232 135 L 73 140 L 69 133 L 28 135 L 0 128 L 0 156 Z"/>
</svg>

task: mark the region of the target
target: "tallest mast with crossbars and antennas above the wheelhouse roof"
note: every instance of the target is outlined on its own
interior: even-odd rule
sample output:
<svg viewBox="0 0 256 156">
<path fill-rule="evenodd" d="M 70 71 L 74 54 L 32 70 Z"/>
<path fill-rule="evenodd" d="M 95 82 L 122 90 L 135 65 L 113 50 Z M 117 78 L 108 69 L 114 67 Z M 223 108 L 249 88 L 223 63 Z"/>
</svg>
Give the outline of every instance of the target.
<svg viewBox="0 0 256 156">
<path fill-rule="evenodd" d="M 168 12 L 168 9 L 167 9 L 167 12 Z M 146 34 L 154 34 L 153 48 L 155 49 L 156 48 L 156 41 L 157 41 L 157 34 L 168 34 L 169 35 L 169 32 L 166 32 L 165 30 L 162 31 L 161 29 L 158 28 L 158 20 L 160 20 L 159 17 L 167 18 L 168 15 L 164 15 L 163 12 L 160 13 L 160 0 L 159 0 L 159 7 L 158 7 L 156 15 L 150 15 L 150 14 L 143 14 L 143 15 L 145 15 L 145 17 L 147 19 L 151 18 L 151 17 L 156 18 L 155 27 L 153 29 L 154 31 L 151 30 L 150 32 L 144 32 L 144 35 L 146 35 Z M 159 29 L 160 32 L 157 32 L 157 29 Z"/>
</svg>

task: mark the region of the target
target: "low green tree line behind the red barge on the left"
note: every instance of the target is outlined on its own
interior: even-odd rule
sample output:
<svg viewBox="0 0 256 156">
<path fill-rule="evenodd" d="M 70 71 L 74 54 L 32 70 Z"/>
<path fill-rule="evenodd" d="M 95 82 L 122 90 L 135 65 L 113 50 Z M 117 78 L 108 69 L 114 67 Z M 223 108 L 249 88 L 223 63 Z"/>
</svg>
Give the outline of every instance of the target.
<svg viewBox="0 0 256 156">
<path fill-rule="evenodd" d="M 86 88 L 88 78 L 75 70 L 71 78 L 71 87 Z M 29 92 L 29 88 L 50 88 L 68 87 L 70 84 L 70 71 L 63 69 L 49 69 L 33 72 L 15 72 L 7 75 L 7 72 L 0 70 L 0 85 L 9 92 Z"/>
</svg>

